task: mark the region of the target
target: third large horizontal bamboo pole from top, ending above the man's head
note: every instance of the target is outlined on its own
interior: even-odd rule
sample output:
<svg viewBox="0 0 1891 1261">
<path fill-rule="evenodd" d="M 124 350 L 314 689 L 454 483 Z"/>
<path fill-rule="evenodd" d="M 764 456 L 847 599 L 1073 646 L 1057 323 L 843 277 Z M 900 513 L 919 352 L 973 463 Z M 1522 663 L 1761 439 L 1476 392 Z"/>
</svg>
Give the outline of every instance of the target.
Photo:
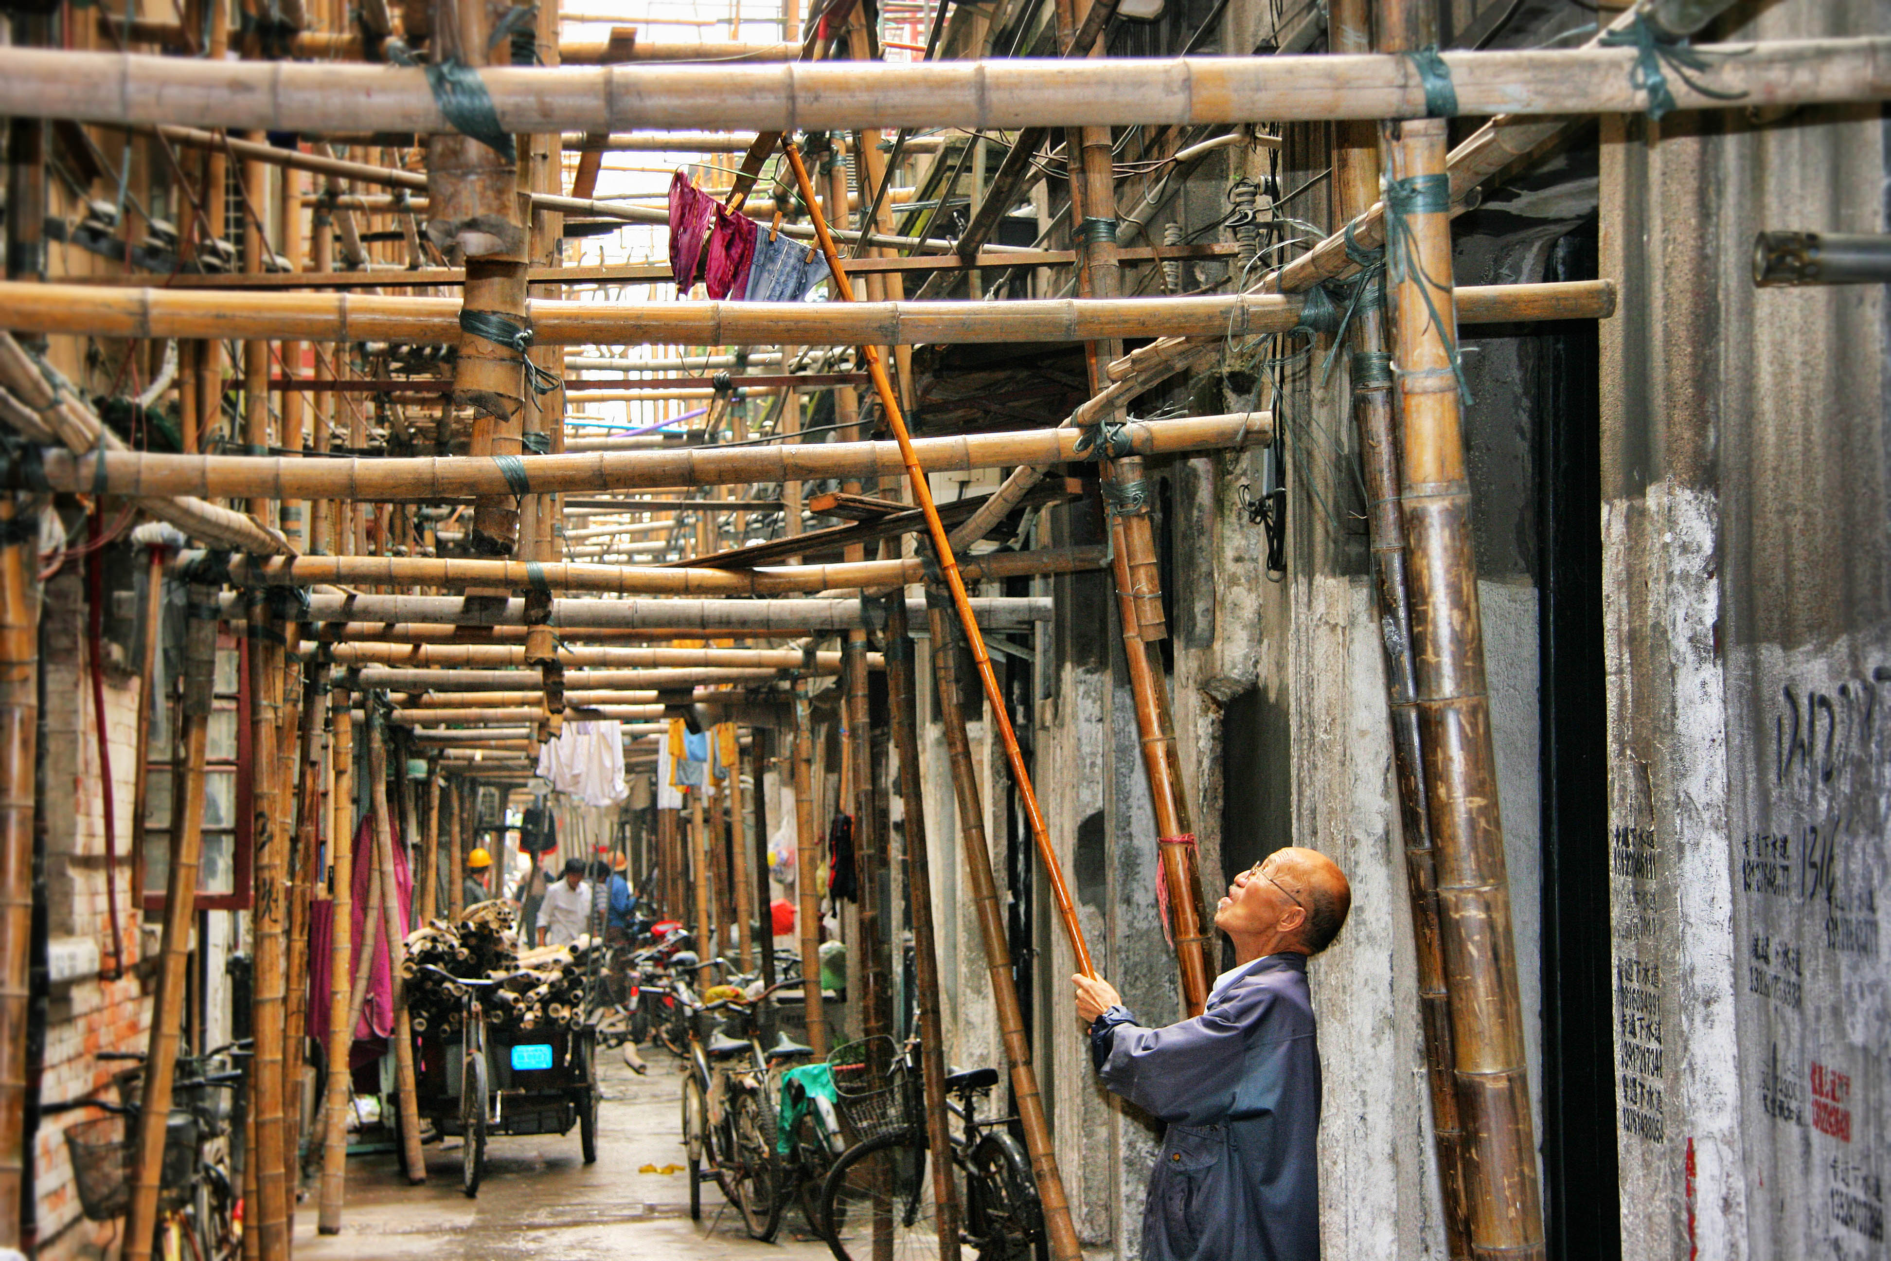
<svg viewBox="0 0 1891 1261">
<path fill-rule="evenodd" d="M 32 285 L 26 285 L 32 287 Z M 998 302 L 993 302 L 997 306 Z M 1025 429 L 913 442 L 927 471 L 966 471 L 1002 465 L 1042 465 L 1082 459 L 1078 429 Z M 1265 446 L 1273 416 L 1239 412 L 1148 420 L 1123 425 L 1138 456 Z M 104 469 L 98 465 L 104 463 Z M 43 486 L 74 493 L 204 495 L 229 499 L 354 499 L 367 503 L 433 501 L 461 495 L 524 495 L 643 486 L 726 486 L 819 478 L 891 476 L 904 465 L 894 442 L 819 442 L 792 446 L 698 446 L 658 452 L 598 452 L 579 456 L 522 456 L 507 465 L 482 456 L 425 456 L 414 459 L 314 459 L 299 456 L 161 456 L 106 452 L 74 456 L 47 450 Z M 19 463 L 6 476 L 15 490 L 32 480 Z M 310 558 L 340 560 L 340 558 Z M 365 558 L 356 558 L 365 560 Z M 458 563 L 458 561 L 456 561 Z M 514 586 L 526 586 L 524 569 Z"/>
</svg>

